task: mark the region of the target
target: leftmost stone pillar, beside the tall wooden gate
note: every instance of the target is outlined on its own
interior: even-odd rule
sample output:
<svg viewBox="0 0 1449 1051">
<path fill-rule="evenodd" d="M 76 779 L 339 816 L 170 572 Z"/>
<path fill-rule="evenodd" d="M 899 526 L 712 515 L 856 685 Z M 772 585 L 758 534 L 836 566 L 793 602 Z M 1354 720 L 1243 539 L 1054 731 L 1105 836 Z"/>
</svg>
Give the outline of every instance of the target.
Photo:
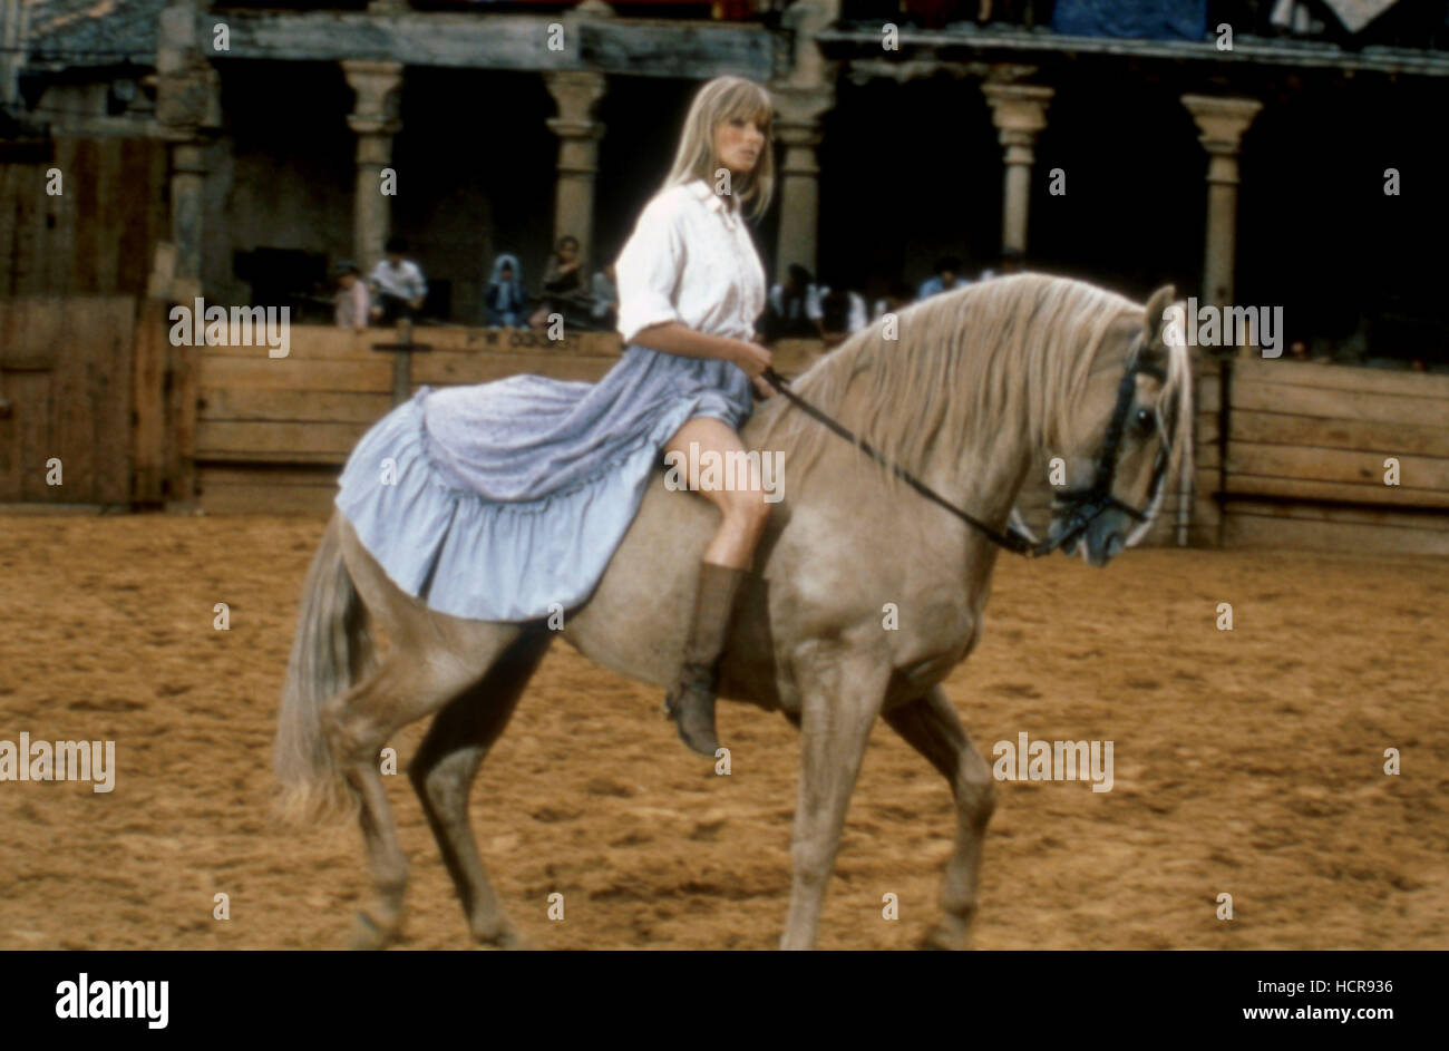
<svg viewBox="0 0 1449 1051">
<path fill-rule="evenodd" d="M 159 20 L 156 135 L 171 151 L 171 241 L 175 245 L 171 294 L 181 302 L 201 294 L 206 148 L 220 123 L 220 78 L 206 59 L 196 7 L 175 3 L 161 12 Z"/>
</svg>

